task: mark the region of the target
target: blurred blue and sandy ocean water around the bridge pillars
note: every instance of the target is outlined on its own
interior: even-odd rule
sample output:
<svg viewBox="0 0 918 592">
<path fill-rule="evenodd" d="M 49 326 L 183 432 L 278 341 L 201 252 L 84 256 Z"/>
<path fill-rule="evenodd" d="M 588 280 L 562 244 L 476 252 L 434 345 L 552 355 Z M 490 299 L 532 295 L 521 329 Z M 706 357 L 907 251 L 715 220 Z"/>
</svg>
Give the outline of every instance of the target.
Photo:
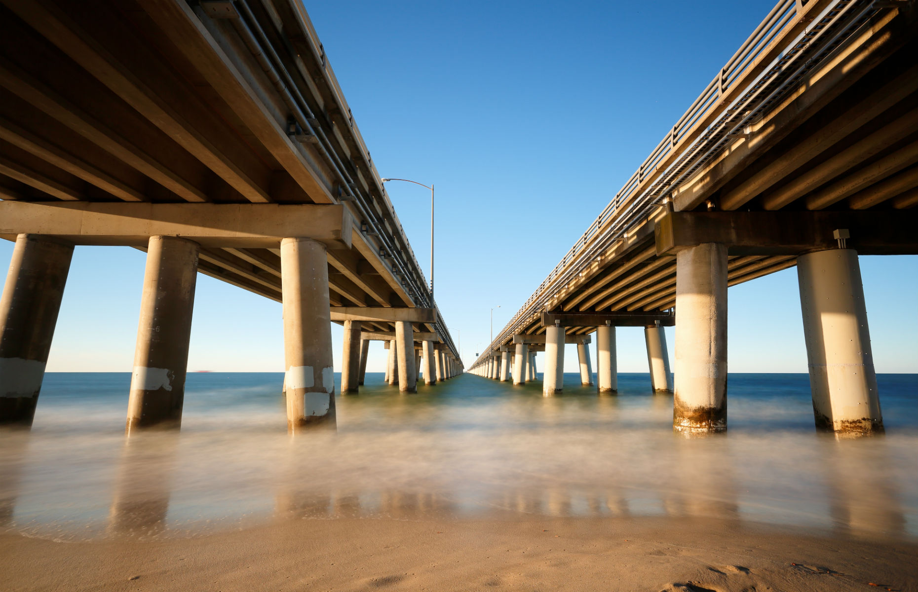
<svg viewBox="0 0 918 592">
<path fill-rule="evenodd" d="M 340 380 L 340 377 L 337 377 Z M 918 537 L 918 374 L 880 374 L 885 436 L 813 428 L 806 374 L 730 374 L 729 430 L 672 431 L 672 396 L 367 374 L 338 429 L 286 433 L 282 374 L 189 374 L 182 430 L 125 440 L 130 374 L 47 374 L 0 431 L 0 526 L 58 540 L 195 536 L 276 519 L 705 517 Z M 572 386 L 573 385 L 573 386 Z"/>
</svg>

